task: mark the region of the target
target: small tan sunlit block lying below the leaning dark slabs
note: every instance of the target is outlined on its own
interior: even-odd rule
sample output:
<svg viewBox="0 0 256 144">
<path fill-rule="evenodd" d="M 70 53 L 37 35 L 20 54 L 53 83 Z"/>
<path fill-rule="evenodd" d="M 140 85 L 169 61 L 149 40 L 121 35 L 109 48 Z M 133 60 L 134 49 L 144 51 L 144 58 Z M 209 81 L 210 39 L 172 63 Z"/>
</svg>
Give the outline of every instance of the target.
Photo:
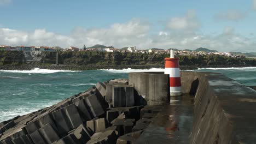
<svg viewBox="0 0 256 144">
<path fill-rule="evenodd" d="M 87 121 L 86 125 L 94 132 L 103 131 L 107 128 L 107 122 L 105 118 L 98 118 L 95 120 Z"/>
</svg>

